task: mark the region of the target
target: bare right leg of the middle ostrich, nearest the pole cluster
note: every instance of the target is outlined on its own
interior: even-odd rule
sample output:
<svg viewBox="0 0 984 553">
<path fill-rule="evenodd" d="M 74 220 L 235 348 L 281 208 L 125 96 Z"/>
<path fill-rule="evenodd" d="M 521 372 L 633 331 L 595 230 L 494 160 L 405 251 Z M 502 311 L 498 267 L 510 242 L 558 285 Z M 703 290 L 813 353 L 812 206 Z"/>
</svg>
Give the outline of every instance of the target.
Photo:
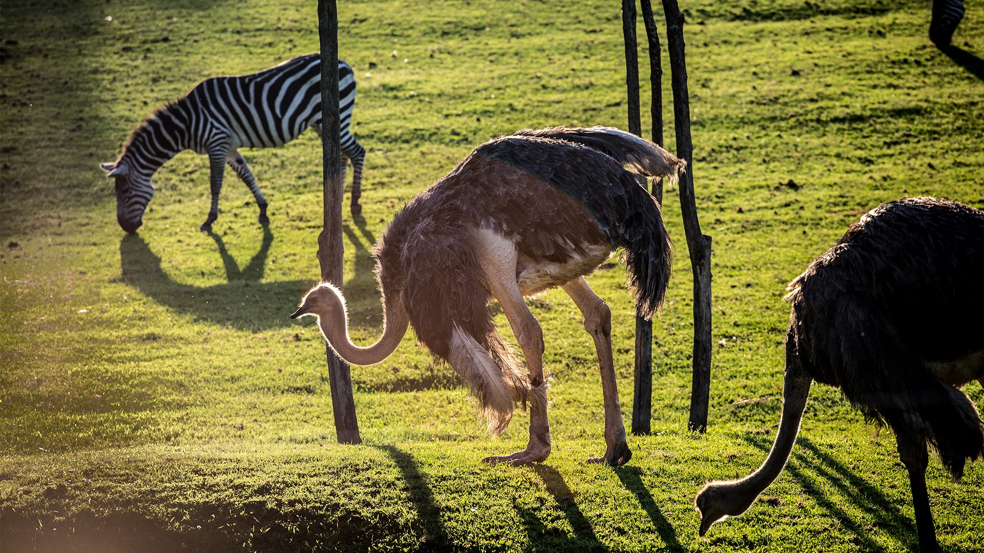
<svg viewBox="0 0 984 553">
<path fill-rule="evenodd" d="M 612 312 L 604 300 L 587 285 L 584 276 L 564 284 L 564 291 L 571 296 L 584 315 L 584 330 L 594 339 L 601 368 L 601 395 L 605 402 L 605 455 L 587 460 L 607 462 L 620 466 L 632 458 L 632 450 L 625 440 L 625 424 L 618 402 L 618 386 L 615 382 L 615 362 L 612 359 Z"/>
</svg>

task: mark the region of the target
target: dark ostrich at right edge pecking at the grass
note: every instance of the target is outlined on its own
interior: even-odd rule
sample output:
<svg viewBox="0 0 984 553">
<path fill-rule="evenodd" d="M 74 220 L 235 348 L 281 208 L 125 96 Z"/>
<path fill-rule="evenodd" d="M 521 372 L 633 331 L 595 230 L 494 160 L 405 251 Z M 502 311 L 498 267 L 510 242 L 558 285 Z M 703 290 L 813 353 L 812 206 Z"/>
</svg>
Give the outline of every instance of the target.
<svg viewBox="0 0 984 553">
<path fill-rule="evenodd" d="M 954 478 L 984 455 L 973 402 L 984 379 L 984 213 L 933 198 L 875 208 L 789 284 L 782 416 L 755 473 L 697 494 L 701 535 L 745 512 L 778 476 L 813 380 L 839 387 L 888 424 L 909 473 L 919 546 L 937 551 L 926 493 L 927 445 Z M 984 382 L 982 382 L 984 384 Z"/>
</svg>

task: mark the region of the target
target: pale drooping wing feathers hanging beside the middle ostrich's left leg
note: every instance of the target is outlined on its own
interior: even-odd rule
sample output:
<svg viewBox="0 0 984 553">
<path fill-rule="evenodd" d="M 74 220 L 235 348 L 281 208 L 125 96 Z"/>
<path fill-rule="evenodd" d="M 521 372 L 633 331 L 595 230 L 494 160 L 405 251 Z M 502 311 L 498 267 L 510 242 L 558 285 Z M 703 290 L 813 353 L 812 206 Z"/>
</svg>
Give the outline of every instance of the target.
<svg viewBox="0 0 984 553">
<path fill-rule="evenodd" d="M 503 351 L 490 353 L 458 325 L 452 331 L 450 345 L 451 366 L 468 382 L 472 398 L 488 421 L 489 433 L 498 435 L 513 418 L 516 391 L 497 362 L 503 359 Z"/>
</svg>

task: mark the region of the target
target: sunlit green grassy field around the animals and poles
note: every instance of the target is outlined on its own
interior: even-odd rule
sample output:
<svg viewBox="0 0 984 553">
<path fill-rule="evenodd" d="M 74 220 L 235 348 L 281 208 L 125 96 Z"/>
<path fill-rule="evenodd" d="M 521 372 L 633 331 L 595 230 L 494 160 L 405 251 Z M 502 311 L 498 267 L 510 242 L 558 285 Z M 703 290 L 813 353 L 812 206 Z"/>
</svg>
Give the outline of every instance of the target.
<svg viewBox="0 0 984 553">
<path fill-rule="evenodd" d="M 682 3 L 692 170 L 714 244 L 710 426 L 687 431 L 692 280 L 668 191 L 676 270 L 654 322 L 653 432 L 630 436 L 635 457 L 611 468 L 584 463 L 604 450 L 600 383 L 560 291 L 530 300 L 553 376 L 546 463 L 483 464 L 522 449 L 525 415 L 486 436 L 453 371 L 412 333 L 384 363 L 353 367 L 363 444 L 338 445 L 323 340 L 310 319 L 288 319 L 319 276 L 313 133 L 244 151 L 271 202 L 269 228 L 227 172 L 215 233 L 199 232 L 208 161 L 185 153 L 154 177 L 139 234 L 120 230 L 98 162 L 198 81 L 317 50 L 315 4 L 4 1 L 0 550 L 916 547 L 892 433 L 823 386 L 785 472 L 748 513 L 698 537 L 693 498 L 769 450 L 785 283 L 880 203 L 933 195 L 984 207 L 980 6 L 948 56 L 926 38 L 924 2 Z M 354 132 L 369 151 L 364 216 L 343 221 L 352 335 L 367 343 L 382 324 L 370 246 L 414 193 L 492 136 L 626 126 L 621 14 L 614 1 L 338 10 L 340 54 L 359 87 Z M 617 266 L 589 279 L 612 307 L 628 423 L 624 280 Z M 965 392 L 984 399 L 977 383 Z M 934 459 L 928 483 L 943 548 L 984 551 L 984 465 L 953 482 Z"/>
</svg>

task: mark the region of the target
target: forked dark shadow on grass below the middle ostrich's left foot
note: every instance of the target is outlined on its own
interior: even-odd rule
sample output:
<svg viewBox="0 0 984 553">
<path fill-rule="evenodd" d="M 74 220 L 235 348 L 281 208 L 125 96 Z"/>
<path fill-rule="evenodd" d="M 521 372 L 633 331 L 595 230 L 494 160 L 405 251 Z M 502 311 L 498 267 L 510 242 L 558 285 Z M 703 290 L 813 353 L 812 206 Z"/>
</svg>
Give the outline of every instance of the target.
<svg viewBox="0 0 984 553">
<path fill-rule="evenodd" d="M 571 548 L 572 546 L 577 546 L 580 551 L 607 550 L 598 541 L 594 529 L 591 528 L 591 523 L 584 517 L 584 513 L 581 512 L 581 508 L 574 500 L 574 493 L 567 486 L 567 482 L 564 481 L 560 472 L 546 464 L 533 463 L 528 466 L 543 480 L 547 491 L 557 501 L 557 506 L 570 522 L 575 534 L 573 538 L 569 538 L 557 528 L 548 528 L 540 520 L 538 513 L 517 504 L 516 512 L 526 526 L 526 535 L 529 536 L 531 545 L 530 550 L 552 551 L 561 547 Z"/>
</svg>

